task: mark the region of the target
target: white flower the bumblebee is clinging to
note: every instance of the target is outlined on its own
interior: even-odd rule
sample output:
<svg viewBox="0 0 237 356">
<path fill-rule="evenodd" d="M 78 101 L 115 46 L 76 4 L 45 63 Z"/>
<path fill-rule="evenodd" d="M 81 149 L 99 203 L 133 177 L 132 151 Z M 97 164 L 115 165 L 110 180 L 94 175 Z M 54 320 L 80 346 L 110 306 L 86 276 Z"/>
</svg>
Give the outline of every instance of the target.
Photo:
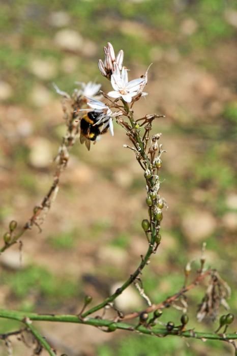
<svg viewBox="0 0 237 356">
<path fill-rule="evenodd" d="M 103 123 L 102 130 L 109 125 L 110 133 L 113 136 L 113 117 L 122 115 L 122 111 L 112 112 L 110 108 L 102 101 L 88 97 L 86 99 L 88 100 L 87 105 L 94 109 L 95 112 L 100 114 L 95 125 Z"/>
</svg>

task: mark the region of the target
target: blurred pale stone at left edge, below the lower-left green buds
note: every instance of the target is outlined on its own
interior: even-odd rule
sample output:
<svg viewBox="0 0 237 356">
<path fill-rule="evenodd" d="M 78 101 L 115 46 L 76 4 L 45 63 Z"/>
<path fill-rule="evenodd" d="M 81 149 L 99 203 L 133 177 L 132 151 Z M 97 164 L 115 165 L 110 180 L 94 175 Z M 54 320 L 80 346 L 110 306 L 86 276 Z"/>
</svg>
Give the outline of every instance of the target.
<svg viewBox="0 0 237 356">
<path fill-rule="evenodd" d="M 0 263 L 2 266 L 9 270 L 22 270 L 28 264 L 28 258 L 25 253 L 22 254 L 20 251 L 7 250 L 0 256 Z"/>
</svg>

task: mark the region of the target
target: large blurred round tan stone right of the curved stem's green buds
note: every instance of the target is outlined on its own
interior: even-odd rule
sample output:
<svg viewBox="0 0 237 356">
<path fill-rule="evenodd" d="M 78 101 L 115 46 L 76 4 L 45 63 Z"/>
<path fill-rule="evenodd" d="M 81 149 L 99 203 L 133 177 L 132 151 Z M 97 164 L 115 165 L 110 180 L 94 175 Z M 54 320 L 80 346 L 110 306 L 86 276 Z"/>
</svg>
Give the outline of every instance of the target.
<svg viewBox="0 0 237 356">
<path fill-rule="evenodd" d="M 216 220 L 207 211 L 190 212 L 182 220 L 182 229 L 187 238 L 192 242 L 211 235 L 216 228 Z"/>
</svg>

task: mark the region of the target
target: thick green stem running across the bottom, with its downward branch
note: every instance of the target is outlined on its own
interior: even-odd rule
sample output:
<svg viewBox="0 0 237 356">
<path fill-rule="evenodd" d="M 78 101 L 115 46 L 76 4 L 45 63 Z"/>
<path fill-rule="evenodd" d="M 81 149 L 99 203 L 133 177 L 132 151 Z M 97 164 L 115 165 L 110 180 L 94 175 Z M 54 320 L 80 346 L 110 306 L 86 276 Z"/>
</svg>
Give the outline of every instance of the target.
<svg viewBox="0 0 237 356">
<path fill-rule="evenodd" d="M 146 334 L 146 335 L 153 335 L 153 336 L 176 335 L 176 336 L 182 336 L 186 338 L 222 340 L 222 341 L 237 339 L 236 333 L 223 335 L 223 334 L 215 334 L 215 333 L 199 333 L 199 332 L 194 332 L 193 330 L 183 331 L 182 333 L 179 333 L 177 330 L 172 330 L 171 332 L 167 333 L 167 330 L 164 328 L 155 327 L 153 329 L 147 329 L 143 325 L 139 325 L 139 327 L 137 327 L 135 330 L 132 325 L 124 322 L 114 322 L 111 320 L 97 319 L 97 318 L 85 318 L 83 320 L 78 318 L 78 316 L 76 315 L 36 314 L 36 313 L 19 312 L 19 311 L 12 311 L 12 310 L 9 311 L 5 309 L 0 309 L 0 317 L 7 318 L 7 319 L 14 319 L 24 323 L 26 318 L 28 318 L 29 320 L 34 320 L 34 321 L 71 322 L 71 323 L 78 323 L 78 324 L 93 325 L 94 327 L 107 327 L 107 328 L 112 323 L 113 325 L 116 326 L 116 329 L 127 330 L 127 331 L 138 331 L 139 333 Z M 27 327 L 29 327 L 28 324 Z M 35 332 L 36 331 L 34 329 L 34 333 Z M 34 335 L 36 336 L 36 334 Z M 41 341 L 37 337 L 37 339 L 43 345 L 43 342 L 46 341 L 45 339 L 42 338 L 42 336 L 40 336 L 40 338 Z M 50 355 L 54 356 L 54 353 L 52 353 L 51 351 Z"/>
</svg>

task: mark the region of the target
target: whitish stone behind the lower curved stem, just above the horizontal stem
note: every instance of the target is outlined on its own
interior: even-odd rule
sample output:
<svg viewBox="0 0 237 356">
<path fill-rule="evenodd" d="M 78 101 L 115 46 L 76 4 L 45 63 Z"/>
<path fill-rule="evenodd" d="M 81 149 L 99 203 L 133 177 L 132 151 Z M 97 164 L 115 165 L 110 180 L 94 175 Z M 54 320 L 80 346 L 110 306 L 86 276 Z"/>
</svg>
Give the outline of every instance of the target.
<svg viewBox="0 0 237 356">
<path fill-rule="evenodd" d="M 114 293 L 117 288 L 120 288 L 123 285 L 121 283 L 115 283 L 111 287 L 111 293 Z M 119 310 L 124 312 L 142 309 L 144 307 L 143 300 L 139 295 L 139 292 L 135 289 L 134 286 L 130 285 L 126 288 L 121 295 L 115 299 L 115 305 Z"/>
</svg>

